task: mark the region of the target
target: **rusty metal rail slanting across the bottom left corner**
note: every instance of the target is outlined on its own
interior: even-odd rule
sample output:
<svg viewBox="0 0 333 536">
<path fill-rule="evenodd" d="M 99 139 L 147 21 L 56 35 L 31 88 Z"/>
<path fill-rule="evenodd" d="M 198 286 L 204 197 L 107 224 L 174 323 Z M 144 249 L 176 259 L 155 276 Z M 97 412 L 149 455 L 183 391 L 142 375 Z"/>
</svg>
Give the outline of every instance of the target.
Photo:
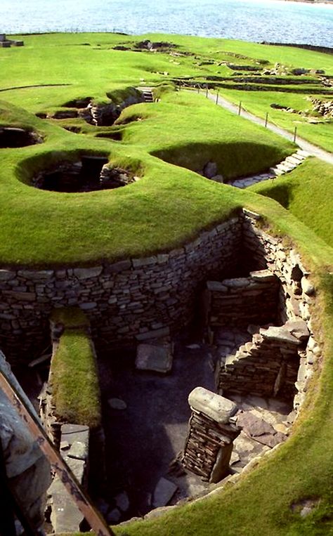
<svg viewBox="0 0 333 536">
<path fill-rule="evenodd" d="M 11 384 L 11 381 L 1 371 L 0 388 L 6 394 L 8 400 L 13 404 L 15 410 L 17 410 L 21 419 L 27 425 L 27 428 L 30 430 L 30 433 L 32 433 L 34 439 L 37 440 L 39 447 L 51 464 L 51 469 L 58 474 L 60 481 L 65 485 L 67 492 L 70 493 L 72 499 L 81 511 L 81 514 L 84 515 L 86 521 L 91 526 L 91 529 L 96 532 L 96 536 L 115 536 L 115 532 L 112 532 L 99 512 L 93 507 L 89 497 L 87 497 L 86 493 L 81 489 L 81 486 L 77 482 L 72 471 L 60 456 L 59 452 L 55 450 L 55 447 L 46 435 L 43 426 L 41 426 L 38 419 L 31 414 L 29 408 L 25 405 L 24 400 L 22 400 L 20 394 Z"/>
</svg>

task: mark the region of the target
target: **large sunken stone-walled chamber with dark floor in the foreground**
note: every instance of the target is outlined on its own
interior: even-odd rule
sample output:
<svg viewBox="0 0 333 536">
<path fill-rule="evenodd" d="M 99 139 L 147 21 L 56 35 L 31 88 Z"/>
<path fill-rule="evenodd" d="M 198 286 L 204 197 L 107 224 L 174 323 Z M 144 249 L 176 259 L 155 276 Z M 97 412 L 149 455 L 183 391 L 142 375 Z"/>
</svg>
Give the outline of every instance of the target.
<svg viewBox="0 0 333 536">
<path fill-rule="evenodd" d="M 81 482 L 89 479 L 91 445 L 90 491 L 109 523 L 235 480 L 287 439 L 318 353 L 309 275 L 299 254 L 261 230 L 249 211 L 169 254 L 1 270 L 1 346 L 12 362 L 42 352 L 54 307 L 79 307 L 89 320 L 102 428 L 57 424 L 48 388 L 43 419 L 57 429 L 67 460 L 81 456 Z M 62 329 L 53 326 L 53 353 Z M 75 436 L 83 453 L 68 440 L 68 426 L 83 434 Z M 59 486 L 55 505 L 63 500 Z M 65 531 L 56 510 L 53 528 Z M 84 527 L 75 519 L 70 530 Z"/>
</svg>

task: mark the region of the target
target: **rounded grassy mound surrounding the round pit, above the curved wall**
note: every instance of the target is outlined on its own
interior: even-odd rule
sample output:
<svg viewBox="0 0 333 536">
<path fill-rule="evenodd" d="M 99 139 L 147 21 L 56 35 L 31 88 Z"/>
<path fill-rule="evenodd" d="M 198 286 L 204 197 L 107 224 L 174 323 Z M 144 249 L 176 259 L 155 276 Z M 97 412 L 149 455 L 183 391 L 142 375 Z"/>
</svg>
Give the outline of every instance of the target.
<svg viewBox="0 0 333 536">
<path fill-rule="evenodd" d="M 193 162 L 202 166 L 209 159 L 211 147 L 228 175 L 265 169 L 293 150 L 288 141 L 268 135 L 262 127 L 249 122 L 237 122 L 237 118 L 202 96 L 185 98 L 175 93 L 166 98 L 165 105 L 141 104 L 128 110 L 142 111 L 148 119 L 124 126 L 125 132 L 129 131 L 129 141 L 126 134 L 125 143 L 69 133 L 23 112 L 13 112 L 17 118 L 14 124 L 44 131 L 46 143 L 1 150 L 2 263 L 96 263 L 150 254 L 190 240 L 200 229 L 228 217 L 242 203 L 239 192 L 180 167 L 171 168 L 150 156 L 149 150 L 162 153 L 164 148 L 178 144 L 183 148 L 183 157 L 192 155 L 192 145 L 196 144 Z M 9 116 L 7 110 L 0 115 L 0 121 L 8 123 Z M 192 129 L 193 120 L 196 129 Z M 230 136 L 233 124 L 235 134 Z M 246 138 L 252 143 L 243 143 Z M 233 151 L 228 155 L 230 140 Z M 79 194 L 46 192 L 28 185 L 34 171 L 79 152 L 110 155 L 112 162 L 131 166 L 143 178 L 126 188 Z M 177 155 L 172 159 L 184 164 L 178 160 Z M 68 244 L 72 244 L 70 248 Z"/>
</svg>

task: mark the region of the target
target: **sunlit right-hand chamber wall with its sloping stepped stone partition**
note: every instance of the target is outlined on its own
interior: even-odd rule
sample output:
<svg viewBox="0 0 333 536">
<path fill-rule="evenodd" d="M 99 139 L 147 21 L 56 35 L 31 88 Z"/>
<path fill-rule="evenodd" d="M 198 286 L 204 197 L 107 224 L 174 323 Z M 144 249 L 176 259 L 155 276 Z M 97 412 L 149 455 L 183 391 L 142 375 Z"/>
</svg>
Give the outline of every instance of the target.
<svg viewBox="0 0 333 536">
<path fill-rule="evenodd" d="M 221 362 L 218 391 L 294 396 L 294 408 L 299 410 L 320 355 L 311 327 L 315 288 L 299 254 L 261 230 L 258 214 L 243 213 L 244 247 L 257 266 L 268 268 L 280 280 L 278 325 L 260 329 L 252 341 Z"/>
</svg>

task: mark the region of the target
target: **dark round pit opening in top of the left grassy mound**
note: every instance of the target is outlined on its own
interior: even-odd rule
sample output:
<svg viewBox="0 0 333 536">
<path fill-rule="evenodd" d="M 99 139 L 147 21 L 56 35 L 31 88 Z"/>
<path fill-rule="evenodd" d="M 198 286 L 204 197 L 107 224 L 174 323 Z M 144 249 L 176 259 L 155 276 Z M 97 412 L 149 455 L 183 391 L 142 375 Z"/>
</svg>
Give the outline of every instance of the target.
<svg viewBox="0 0 333 536">
<path fill-rule="evenodd" d="M 121 188 L 136 181 L 129 171 L 110 166 L 107 157 L 82 156 L 77 162 L 62 162 L 40 171 L 32 184 L 52 192 L 93 192 Z"/>
</svg>

